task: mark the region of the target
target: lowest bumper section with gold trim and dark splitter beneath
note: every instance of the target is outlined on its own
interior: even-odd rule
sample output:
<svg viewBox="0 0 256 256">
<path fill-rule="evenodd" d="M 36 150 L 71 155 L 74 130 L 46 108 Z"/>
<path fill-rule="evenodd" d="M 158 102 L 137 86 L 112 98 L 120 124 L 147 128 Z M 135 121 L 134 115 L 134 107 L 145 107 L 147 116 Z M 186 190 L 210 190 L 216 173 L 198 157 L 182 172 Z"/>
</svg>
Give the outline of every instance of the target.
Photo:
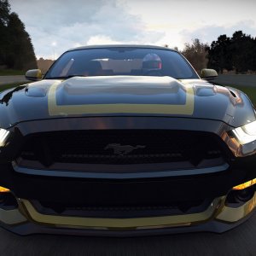
<svg viewBox="0 0 256 256">
<path fill-rule="evenodd" d="M 19 235 L 37 233 L 88 236 L 148 236 L 183 232 L 222 233 L 244 222 L 256 207 L 256 192 L 240 207 L 228 207 L 226 196 L 216 198 L 204 212 L 149 218 L 81 218 L 42 214 L 27 200 L 18 207 L 0 208 L 3 228 Z"/>
</svg>

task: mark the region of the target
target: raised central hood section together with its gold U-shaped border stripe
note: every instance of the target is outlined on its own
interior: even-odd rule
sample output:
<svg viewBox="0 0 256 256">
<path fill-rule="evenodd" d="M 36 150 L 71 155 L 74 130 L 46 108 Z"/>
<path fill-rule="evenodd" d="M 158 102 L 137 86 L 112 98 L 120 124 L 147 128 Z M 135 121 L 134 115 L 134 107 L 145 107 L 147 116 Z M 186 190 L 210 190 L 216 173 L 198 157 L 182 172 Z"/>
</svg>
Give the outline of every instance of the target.
<svg viewBox="0 0 256 256">
<path fill-rule="evenodd" d="M 69 79 L 61 86 L 57 83 L 51 86 L 49 115 L 194 113 L 192 86 L 183 88 L 174 79 L 165 78 L 165 81 L 155 78 L 100 77 L 72 80 L 77 83 Z"/>
</svg>

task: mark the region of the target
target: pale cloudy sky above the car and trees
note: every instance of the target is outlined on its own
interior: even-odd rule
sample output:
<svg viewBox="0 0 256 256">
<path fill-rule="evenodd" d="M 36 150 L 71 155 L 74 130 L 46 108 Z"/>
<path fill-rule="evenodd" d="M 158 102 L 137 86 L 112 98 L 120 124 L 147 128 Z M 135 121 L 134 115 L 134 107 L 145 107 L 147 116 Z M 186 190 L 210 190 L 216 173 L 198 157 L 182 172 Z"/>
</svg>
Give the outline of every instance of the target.
<svg viewBox="0 0 256 256">
<path fill-rule="evenodd" d="M 9 0 L 38 58 L 91 44 L 153 44 L 182 50 L 237 30 L 256 37 L 255 0 Z"/>
</svg>

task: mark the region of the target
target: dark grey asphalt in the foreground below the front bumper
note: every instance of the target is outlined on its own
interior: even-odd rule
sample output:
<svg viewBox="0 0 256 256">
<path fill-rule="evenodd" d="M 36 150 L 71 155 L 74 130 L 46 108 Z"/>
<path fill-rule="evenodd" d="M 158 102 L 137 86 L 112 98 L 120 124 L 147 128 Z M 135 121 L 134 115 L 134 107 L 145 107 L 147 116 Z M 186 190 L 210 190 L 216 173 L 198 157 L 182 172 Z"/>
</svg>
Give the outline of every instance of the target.
<svg viewBox="0 0 256 256">
<path fill-rule="evenodd" d="M 224 234 L 137 238 L 16 236 L 0 230 L 0 255 L 256 255 L 256 213 Z"/>
</svg>

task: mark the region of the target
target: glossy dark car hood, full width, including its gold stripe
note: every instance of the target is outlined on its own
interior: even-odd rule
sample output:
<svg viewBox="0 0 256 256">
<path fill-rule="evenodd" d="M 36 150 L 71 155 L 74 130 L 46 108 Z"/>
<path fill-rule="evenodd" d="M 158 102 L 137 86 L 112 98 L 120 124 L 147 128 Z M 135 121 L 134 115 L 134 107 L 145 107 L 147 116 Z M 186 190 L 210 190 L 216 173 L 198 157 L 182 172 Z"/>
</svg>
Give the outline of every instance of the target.
<svg viewBox="0 0 256 256">
<path fill-rule="evenodd" d="M 253 108 L 240 91 L 230 91 L 201 79 L 138 76 L 44 79 L 4 91 L 0 99 L 3 128 L 20 121 L 78 116 L 175 116 L 216 119 L 234 126 L 255 119 Z M 245 107 L 247 116 L 242 110 Z M 234 120 L 239 111 L 240 119 Z"/>
</svg>

